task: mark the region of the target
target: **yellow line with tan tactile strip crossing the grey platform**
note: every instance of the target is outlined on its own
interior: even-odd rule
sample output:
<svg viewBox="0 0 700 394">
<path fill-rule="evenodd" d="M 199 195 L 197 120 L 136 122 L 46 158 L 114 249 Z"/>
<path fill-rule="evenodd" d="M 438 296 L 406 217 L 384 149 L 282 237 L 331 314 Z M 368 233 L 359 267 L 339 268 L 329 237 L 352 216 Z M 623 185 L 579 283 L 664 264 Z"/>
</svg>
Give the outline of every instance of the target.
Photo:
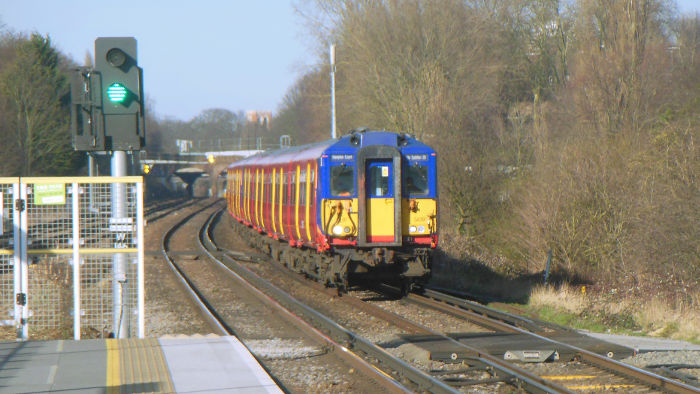
<svg viewBox="0 0 700 394">
<path fill-rule="evenodd" d="M 108 339 L 107 349 L 108 393 L 175 392 L 157 339 Z"/>
</svg>

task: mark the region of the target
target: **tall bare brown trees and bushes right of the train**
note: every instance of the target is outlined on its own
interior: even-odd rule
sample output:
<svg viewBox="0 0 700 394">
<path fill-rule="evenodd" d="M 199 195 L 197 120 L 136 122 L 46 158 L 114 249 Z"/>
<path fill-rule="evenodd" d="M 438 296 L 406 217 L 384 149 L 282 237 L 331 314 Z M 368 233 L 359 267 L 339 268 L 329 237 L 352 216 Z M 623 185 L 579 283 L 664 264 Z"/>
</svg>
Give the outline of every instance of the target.
<svg viewBox="0 0 700 394">
<path fill-rule="evenodd" d="M 335 43 L 338 128 L 407 131 L 438 151 L 436 283 L 527 302 L 551 254 L 551 282 L 585 284 L 609 308 L 579 314 L 697 339 L 682 328 L 700 310 L 697 15 L 667 0 L 298 8 L 319 66 L 273 129 L 328 135 Z"/>
</svg>

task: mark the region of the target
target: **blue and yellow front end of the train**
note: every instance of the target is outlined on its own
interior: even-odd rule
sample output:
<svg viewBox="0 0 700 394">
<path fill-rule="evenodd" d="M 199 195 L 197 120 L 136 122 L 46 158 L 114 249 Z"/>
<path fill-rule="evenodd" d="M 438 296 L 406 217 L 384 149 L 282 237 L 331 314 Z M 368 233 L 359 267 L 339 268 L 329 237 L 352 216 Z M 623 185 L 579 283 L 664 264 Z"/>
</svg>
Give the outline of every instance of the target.
<svg viewBox="0 0 700 394">
<path fill-rule="evenodd" d="M 425 277 L 428 250 L 437 244 L 435 153 L 422 144 L 402 153 L 396 134 L 381 134 L 385 143 L 326 156 L 319 225 L 336 250 L 365 251 L 365 266 Z"/>
</svg>

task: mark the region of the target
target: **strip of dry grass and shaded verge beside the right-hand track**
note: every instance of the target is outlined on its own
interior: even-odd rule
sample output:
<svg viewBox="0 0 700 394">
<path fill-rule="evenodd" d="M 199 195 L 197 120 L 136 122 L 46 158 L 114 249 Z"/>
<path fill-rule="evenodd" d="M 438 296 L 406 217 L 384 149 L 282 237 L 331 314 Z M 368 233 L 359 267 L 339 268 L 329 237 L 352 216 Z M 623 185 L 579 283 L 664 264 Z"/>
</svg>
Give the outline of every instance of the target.
<svg viewBox="0 0 700 394">
<path fill-rule="evenodd" d="M 635 289 L 581 285 L 533 285 L 536 274 L 508 274 L 505 261 L 469 258 L 468 245 L 445 236 L 433 264 L 431 285 L 510 303 L 540 319 L 593 332 L 649 335 L 700 344 L 700 287 L 679 287 L 658 277 Z M 456 257 L 455 257 L 456 256 Z M 505 273 L 504 273 L 505 272 Z M 562 278 L 563 279 L 563 278 Z M 634 291 L 630 291 L 634 290 Z"/>
</svg>

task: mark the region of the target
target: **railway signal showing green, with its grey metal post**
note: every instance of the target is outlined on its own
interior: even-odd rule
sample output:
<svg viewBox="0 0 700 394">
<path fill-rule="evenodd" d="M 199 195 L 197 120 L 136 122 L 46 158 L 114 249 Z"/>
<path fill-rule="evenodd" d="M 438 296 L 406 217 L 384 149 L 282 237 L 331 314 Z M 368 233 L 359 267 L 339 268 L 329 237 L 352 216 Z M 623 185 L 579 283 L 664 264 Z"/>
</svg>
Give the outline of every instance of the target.
<svg viewBox="0 0 700 394">
<path fill-rule="evenodd" d="M 111 175 L 127 176 L 127 152 L 146 144 L 143 70 L 138 66 L 136 39 L 99 37 L 95 40 L 95 68 L 81 67 L 71 78 L 71 130 L 73 146 L 81 151 L 111 152 Z M 115 228 L 124 224 L 126 186 L 112 185 L 112 218 Z M 134 223 L 135 225 L 135 223 Z M 115 248 L 127 248 L 131 239 L 113 234 Z M 127 281 L 126 256 L 113 255 L 113 333 L 128 334 L 124 303 Z"/>
</svg>

